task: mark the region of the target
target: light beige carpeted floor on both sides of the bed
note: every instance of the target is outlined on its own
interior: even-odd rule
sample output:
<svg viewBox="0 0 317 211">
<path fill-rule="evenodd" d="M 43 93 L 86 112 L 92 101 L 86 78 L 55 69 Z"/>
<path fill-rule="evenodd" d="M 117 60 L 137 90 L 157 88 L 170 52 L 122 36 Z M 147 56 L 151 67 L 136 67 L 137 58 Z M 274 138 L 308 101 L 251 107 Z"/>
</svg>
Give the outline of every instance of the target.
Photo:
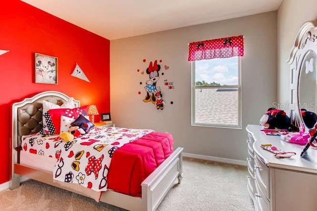
<svg viewBox="0 0 317 211">
<path fill-rule="evenodd" d="M 184 158 L 184 178 L 157 211 L 253 211 L 247 167 Z M 122 211 L 34 180 L 0 192 L 0 211 Z"/>
</svg>

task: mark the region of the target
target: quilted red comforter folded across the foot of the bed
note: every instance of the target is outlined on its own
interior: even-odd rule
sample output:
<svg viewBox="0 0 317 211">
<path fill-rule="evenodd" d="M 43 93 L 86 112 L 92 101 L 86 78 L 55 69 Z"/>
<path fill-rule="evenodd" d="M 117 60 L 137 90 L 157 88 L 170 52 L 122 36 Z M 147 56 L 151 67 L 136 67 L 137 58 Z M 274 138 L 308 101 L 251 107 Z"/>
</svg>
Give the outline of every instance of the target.
<svg viewBox="0 0 317 211">
<path fill-rule="evenodd" d="M 107 175 L 108 188 L 141 197 L 141 183 L 172 152 L 174 139 L 169 133 L 151 132 L 117 149 Z"/>
</svg>

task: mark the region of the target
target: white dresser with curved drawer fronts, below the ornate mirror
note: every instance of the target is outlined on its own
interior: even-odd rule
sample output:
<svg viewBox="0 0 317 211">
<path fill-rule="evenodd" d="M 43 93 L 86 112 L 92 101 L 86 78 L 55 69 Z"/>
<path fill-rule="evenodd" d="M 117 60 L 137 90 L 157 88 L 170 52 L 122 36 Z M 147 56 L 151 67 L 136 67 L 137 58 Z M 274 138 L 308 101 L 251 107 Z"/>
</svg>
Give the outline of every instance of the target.
<svg viewBox="0 0 317 211">
<path fill-rule="evenodd" d="M 248 191 L 257 211 L 317 211 L 317 150 L 265 135 L 258 125 L 248 125 Z M 272 144 L 291 158 L 275 158 L 260 147 Z"/>
</svg>

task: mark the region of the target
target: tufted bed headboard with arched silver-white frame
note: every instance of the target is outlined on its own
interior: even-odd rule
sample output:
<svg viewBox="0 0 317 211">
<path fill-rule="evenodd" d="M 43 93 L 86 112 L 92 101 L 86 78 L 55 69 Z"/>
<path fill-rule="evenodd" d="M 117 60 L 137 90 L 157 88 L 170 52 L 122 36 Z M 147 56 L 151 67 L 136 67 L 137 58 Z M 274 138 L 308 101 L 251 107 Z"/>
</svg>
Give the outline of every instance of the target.
<svg viewBox="0 0 317 211">
<path fill-rule="evenodd" d="M 21 102 L 12 105 L 12 148 L 17 149 L 21 146 L 22 135 L 29 135 L 39 132 L 42 124 L 42 103 L 43 100 L 61 105 L 69 100 L 66 94 L 58 91 L 41 92 L 31 98 L 25 98 Z M 78 100 L 74 100 L 76 107 L 80 106 Z"/>
</svg>

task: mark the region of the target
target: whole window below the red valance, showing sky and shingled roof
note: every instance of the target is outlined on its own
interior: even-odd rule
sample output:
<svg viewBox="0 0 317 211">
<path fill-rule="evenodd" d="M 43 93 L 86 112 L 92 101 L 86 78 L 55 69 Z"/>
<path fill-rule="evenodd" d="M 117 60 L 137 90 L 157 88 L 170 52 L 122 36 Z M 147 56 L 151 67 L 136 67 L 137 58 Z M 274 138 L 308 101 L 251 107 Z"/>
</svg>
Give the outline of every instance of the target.
<svg viewBox="0 0 317 211">
<path fill-rule="evenodd" d="M 241 128 L 240 56 L 192 61 L 192 125 Z"/>
</svg>

